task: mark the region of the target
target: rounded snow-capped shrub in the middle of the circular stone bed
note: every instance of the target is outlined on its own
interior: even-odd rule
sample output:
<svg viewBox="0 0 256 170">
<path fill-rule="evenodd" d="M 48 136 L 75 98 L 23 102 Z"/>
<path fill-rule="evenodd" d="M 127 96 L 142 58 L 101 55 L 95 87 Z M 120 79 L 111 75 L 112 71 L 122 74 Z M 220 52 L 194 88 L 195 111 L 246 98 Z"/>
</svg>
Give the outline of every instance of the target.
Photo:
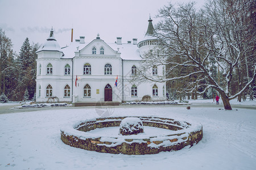
<svg viewBox="0 0 256 170">
<path fill-rule="evenodd" d="M 133 135 L 143 133 L 144 127 L 142 120 L 138 117 L 126 117 L 121 121 L 119 134 Z"/>
</svg>

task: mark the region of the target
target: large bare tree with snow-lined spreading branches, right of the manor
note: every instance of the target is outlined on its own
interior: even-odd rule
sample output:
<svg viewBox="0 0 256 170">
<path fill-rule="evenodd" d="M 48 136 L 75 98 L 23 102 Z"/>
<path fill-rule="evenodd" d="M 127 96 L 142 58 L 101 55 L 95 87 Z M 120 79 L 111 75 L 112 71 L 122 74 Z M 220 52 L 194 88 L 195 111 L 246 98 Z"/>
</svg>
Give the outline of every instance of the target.
<svg viewBox="0 0 256 170">
<path fill-rule="evenodd" d="M 209 1 L 205 9 L 199 12 L 195 10 L 194 4 L 174 7 L 170 3 L 159 10 L 158 17 L 161 20 L 155 26 L 155 36 L 160 45 L 145 55 L 137 79 L 156 82 L 186 79 L 183 82 L 184 91 L 196 91 L 198 94 L 214 88 L 221 95 L 224 108 L 231 110 L 229 101 L 241 95 L 255 81 L 254 62 L 248 68 L 250 72 L 246 83 L 241 84 L 236 91 L 231 91 L 233 74 L 245 62 L 243 57 L 248 58 L 247 53 L 255 57 L 251 46 L 242 42 L 252 42 L 255 35 L 240 36 L 238 39 L 236 31 L 241 23 L 233 22 L 233 15 L 238 14 L 230 15 L 229 12 L 234 11 L 236 6 L 230 6 L 228 1 Z M 247 24 L 251 27 L 249 22 Z M 209 63 L 219 68 L 218 76 L 212 76 Z M 147 74 L 145 70 L 152 64 L 166 65 L 166 75 Z M 183 74 L 172 74 L 184 67 L 187 71 Z"/>
</svg>

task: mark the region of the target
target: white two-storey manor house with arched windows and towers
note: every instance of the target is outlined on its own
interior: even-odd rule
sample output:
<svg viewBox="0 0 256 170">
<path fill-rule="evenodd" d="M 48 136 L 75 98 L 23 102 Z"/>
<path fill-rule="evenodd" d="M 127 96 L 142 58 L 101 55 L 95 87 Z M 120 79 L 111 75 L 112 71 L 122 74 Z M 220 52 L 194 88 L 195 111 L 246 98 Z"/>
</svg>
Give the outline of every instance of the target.
<svg viewBox="0 0 256 170">
<path fill-rule="evenodd" d="M 46 102 L 56 96 L 59 101 L 72 103 L 98 101 L 139 101 L 144 95 L 152 100 L 166 99 L 166 83 L 131 83 L 143 62 L 144 52 L 154 48 L 157 40 L 153 34 L 152 19 L 148 20 L 144 39 L 106 43 L 97 35 L 91 42 L 85 37 L 60 45 L 51 31 L 38 54 L 36 76 L 36 101 Z M 162 66 L 152 67 L 150 74 L 163 74 Z M 115 82 L 117 81 L 117 84 Z M 116 86 L 117 85 L 117 86 Z"/>
</svg>

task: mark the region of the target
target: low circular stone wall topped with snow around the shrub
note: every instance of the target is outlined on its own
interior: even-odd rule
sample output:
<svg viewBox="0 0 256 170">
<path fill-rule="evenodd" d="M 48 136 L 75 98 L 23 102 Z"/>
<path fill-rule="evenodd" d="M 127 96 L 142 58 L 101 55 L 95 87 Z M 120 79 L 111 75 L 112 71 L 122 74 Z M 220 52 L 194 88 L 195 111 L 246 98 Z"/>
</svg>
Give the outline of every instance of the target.
<svg viewBox="0 0 256 170">
<path fill-rule="evenodd" d="M 75 125 L 61 128 L 61 140 L 73 147 L 89 151 L 110 154 L 144 155 L 158 154 L 161 151 L 177 151 L 185 146 L 193 146 L 203 138 L 201 124 L 189 124 L 171 118 L 137 117 L 143 126 L 150 126 L 168 130 L 164 134 L 139 134 L 114 135 L 92 133 L 101 128 L 119 127 L 126 117 L 106 117 L 86 120 Z M 127 125 L 125 126 L 127 127 Z M 121 129 L 120 129 L 121 131 Z"/>
</svg>

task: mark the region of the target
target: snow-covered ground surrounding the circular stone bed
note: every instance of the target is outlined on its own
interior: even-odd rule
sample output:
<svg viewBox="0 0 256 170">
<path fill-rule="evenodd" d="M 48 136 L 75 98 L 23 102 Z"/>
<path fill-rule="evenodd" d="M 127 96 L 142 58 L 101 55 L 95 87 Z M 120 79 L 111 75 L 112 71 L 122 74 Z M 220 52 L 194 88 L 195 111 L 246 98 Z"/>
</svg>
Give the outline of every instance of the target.
<svg viewBox="0 0 256 170">
<path fill-rule="evenodd" d="M 113 155 L 65 145 L 61 126 L 98 117 L 95 108 L 0 114 L 0 169 L 255 169 L 255 109 L 186 107 L 110 109 L 112 116 L 158 116 L 203 125 L 197 145 L 155 155 Z"/>
</svg>

